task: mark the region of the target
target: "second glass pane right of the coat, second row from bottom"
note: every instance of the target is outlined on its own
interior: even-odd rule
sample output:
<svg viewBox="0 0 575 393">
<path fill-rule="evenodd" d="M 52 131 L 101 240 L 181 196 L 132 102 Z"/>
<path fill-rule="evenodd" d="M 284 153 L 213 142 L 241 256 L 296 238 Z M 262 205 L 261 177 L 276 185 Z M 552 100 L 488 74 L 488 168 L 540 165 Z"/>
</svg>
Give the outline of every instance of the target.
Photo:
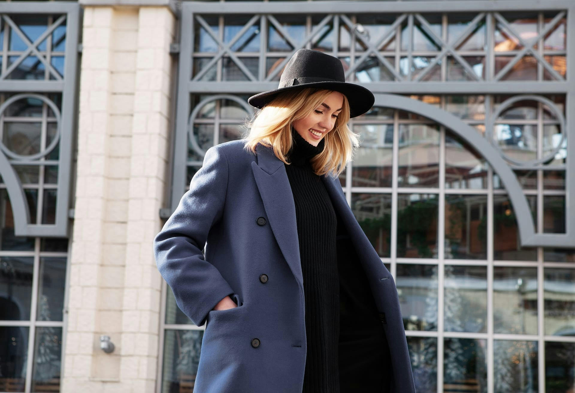
<svg viewBox="0 0 575 393">
<path fill-rule="evenodd" d="M 486 331 L 487 268 L 445 266 L 445 331 Z"/>
</svg>

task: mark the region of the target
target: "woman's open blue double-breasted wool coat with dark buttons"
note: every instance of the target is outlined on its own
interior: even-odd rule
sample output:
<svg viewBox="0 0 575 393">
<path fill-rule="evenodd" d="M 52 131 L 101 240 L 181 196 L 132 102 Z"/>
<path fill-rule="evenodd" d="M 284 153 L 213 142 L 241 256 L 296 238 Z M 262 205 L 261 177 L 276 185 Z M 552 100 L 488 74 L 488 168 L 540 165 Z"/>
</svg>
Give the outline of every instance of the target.
<svg viewBox="0 0 575 393">
<path fill-rule="evenodd" d="M 393 277 L 339 179 L 321 178 L 385 320 L 392 391 L 415 392 Z M 207 321 L 194 392 L 301 392 L 306 335 L 296 210 L 284 164 L 271 148 L 259 144 L 253 154 L 239 140 L 210 148 L 154 249 L 178 307 L 197 326 Z M 238 307 L 212 310 L 227 295 Z"/>
</svg>

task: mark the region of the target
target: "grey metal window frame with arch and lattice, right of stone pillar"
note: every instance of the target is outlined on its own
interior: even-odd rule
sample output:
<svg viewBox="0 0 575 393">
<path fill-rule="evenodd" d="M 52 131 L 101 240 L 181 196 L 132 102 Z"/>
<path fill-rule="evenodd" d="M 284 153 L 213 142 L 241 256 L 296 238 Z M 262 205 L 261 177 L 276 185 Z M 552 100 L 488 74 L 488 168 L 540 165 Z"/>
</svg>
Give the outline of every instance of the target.
<svg viewBox="0 0 575 393">
<path fill-rule="evenodd" d="M 178 101 L 177 101 L 177 119 L 176 119 L 176 132 L 175 132 L 175 143 L 174 143 L 174 157 L 173 157 L 173 178 L 171 179 L 171 211 L 177 206 L 181 195 L 185 189 L 185 175 L 186 175 L 186 146 L 187 146 L 187 131 L 189 121 L 189 105 L 191 94 L 246 94 L 246 93 L 259 93 L 264 90 L 271 90 L 277 88 L 277 81 L 266 82 L 264 81 L 265 70 L 263 69 L 267 55 L 266 51 L 266 38 L 267 35 L 262 36 L 262 44 L 260 44 L 259 55 L 251 54 L 253 56 L 259 56 L 259 75 L 257 75 L 257 81 L 248 82 L 205 82 L 205 81 L 191 81 L 191 66 L 193 61 L 193 45 L 194 45 L 194 16 L 196 14 L 217 14 L 217 15 L 233 15 L 233 14 L 250 14 L 253 15 L 254 2 L 183 2 L 182 12 L 181 12 L 181 56 L 178 70 Z M 294 12 L 297 10 L 297 12 Z M 306 18 L 308 20 L 307 33 L 310 31 L 310 17 L 309 14 L 339 14 L 339 13 L 350 13 L 350 14 L 360 14 L 360 13 L 457 13 L 457 12 L 476 12 L 476 13 L 488 13 L 488 12 L 507 12 L 507 11 L 562 11 L 566 10 L 568 14 L 566 29 L 568 32 L 575 31 L 575 3 L 571 0 L 549 0 L 546 2 L 540 2 L 539 0 L 524 0 L 524 1 L 417 1 L 417 2 L 337 2 L 337 1 L 322 1 L 322 2 L 262 2 L 258 3 L 258 14 L 308 14 Z M 409 19 L 409 18 L 408 18 Z M 355 21 L 354 18 L 352 18 Z M 339 18 L 335 18 L 335 21 L 339 21 Z M 412 17 L 413 22 L 413 17 Z M 265 31 L 269 20 L 267 18 L 262 18 L 260 21 L 260 29 Z M 486 28 L 490 31 L 493 29 L 495 21 L 493 17 L 488 17 L 486 19 Z M 336 23 L 334 23 L 336 25 Z M 191 27 L 191 31 L 190 31 Z M 335 26 L 337 28 L 338 26 Z M 220 26 L 221 29 L 221 26 Z M 221 34 L 221 31 L 220 31 Z M 353 37 L 352 37 L 353 39 Z M 445 37 L 442 37 L 444 40 Z M 335 38 L 334 38 L 335 40 Z M 493 46 L 493 37 L 488 34 L 487 38 L 488 47 Z M 355 61 L 355 45 L 350 45 L 351 53 L 351 66 L 353 66 Z M 398 50 L 398 49 L 397 49 Z M 437 345 L 437 387 L 438 391 L 443 390 L 443 359 L 444 359 L 444 338 L 448 337 L 458 337 L 458 338 L 476 338 L 476 339 L 486 339 L 487 349 L 486 349 L 486 364 L 487 370 L 487 383 L 488 383 L 488 393 L 493 393 L 494 391 L 494 364 L 493 364 L 493 347 L 495 339 L 515 339 L 520 341 L 536 341 L 538 342 L 538 360 L 539 360 L 539 393 L 545 392 L 545 342 L 551 341 L 561 341 L 561 342 L 575 342 L 575 338 L 572 337 L 557 337 L 553 335 L 545 335 L 543 330 L 543 313 L 544 313 L 544 292 L 543 292 L 543 273 L 545 268 L 575 268 L 575 263 L 569 262 L 545 262 L 543 260 L 543 246 L 551 247 L 573 247 L 572 241 L 569 243 L 569 239 L 573 239 L 575 235 L 573 230 L 575 229 L 575 222 L 572 220 L 566 223 L 566 230 L 568 231 L 566 235 L 549 235 L 549 234 L 538 234 L 543 227 L 543 215 L 542 215 L 542 200 L 543 195 L 557 194 L 566 197 L 566 207 L 575 206 L 575 192 L 573 192 L 575 187 L 575 180 L 570 181 L 569 177 L 566 177 L 566 188 L 565 191 L 562 190 L 543 190 L 542 189 L 542 174 L 539 172 L 538 180 L 539 185 L 537 189 L 534 190 L 523 190 L 513 173 L 513 170 L 517 169 L 541 169 L 540 166 L 524 166 L 524 165 L 510 165 L 505 162 L 501 157 L 499 151 L 497 151 L 486 139 L 482 139 L 478 136 L 476 129 L 471 128 L 469 124 L 466 124 L 461 119 L 444 112 L 443 110 L 436 109 L 434 107 L 429 107 L 423 103 L 414 105 L 415 100 L 409 100 L 406 97 L 401 97 L 402 101 L 398 100 L 398 96 L 393 96 L 393 94 L 433 94 L 433 95 L 447 95 L 447 94 L 474 94 L 486 96 L 485 105 L 490 108 L 492 105 L 493 94 L 565 94 L 566 104 L 565 113 L 568 115 L 568 122 L 566 123 L 566 130 L 569 130 L 569 125 L 572 120 L 569 119 L 570 113 L 575 113 L 575 100 L 573 99 L 575 94 L 575 84 L 570 82 L 572 75 L 575 72 L 575 64 L 573 64 L 573 54 L 575 53 L 575 40 L 568 39 L 568 47 L 565 49 L 566 58 L 568 60 L 568 71 L 565 82 L 551 82 L 551 81 L 541 81 L 541 82 L 506 82 L 506 81 L 493 81 L 494 79 L 494 64 L 485 64 L 485 81 L 474 81 L 474 82 L 416 82 L 416 81 L 405 81 L 405 82 L 374 82 L 374 83 L 358 83 L 360 85 L 368 87 L 374 92 L 376 96 L 376 104 L 393 107 L 396 106 L 398 109 L 408 110 L 409 112 L 416 112 L 423 116 L 429 116 L 430 119 L 435 120 L 440 124 L 440 154 L 439 154 L 439 176 L 440 184 L 438 188 L 432 190 L 429 188 L 400 188 L 397 186 L 398 177 L 398 127 L 394 125 L 394 139 L 392 146 L 393 154 L 393 167 L 392 167 L 392 187 L 390 188 L 359 188 L 352 187 L 351 178 L 351 167 L 352 163 L 348 164 L 346 169 L 346 185 L 343 187 L 346 194 L 346 199 L 348 204 L 351 204 L 351 194 L 352 192 L 372 192 L 372 193 L 388 193 L 392 195 L 392 230 L 391 230 L 391 242 L 390 242 L 390 257 L 381 258 L 382 262 L 390 264 L 390 272 L 396 277 L 397 264 L 431 264 L 438 266 L 438 330 L 436 331 L 407 331 L 408 337 L 432 337 L 438 339 Z M 208 56 L 215 56 L 216 54 L 206 54 Z M 338 56 L 338 48 L 333 48 L 332 55 Z M 285 56 L 285 54 L 277 54 L 277 56 Z M 485 55 L 487 57 L 487 55 Z M 241 54 L 238 56 L 241 57 Z M 493 56 L 491 58 L 493 60 Z M 396 64 L 396 70 L 398 70 L 398 64 Z M 445 70 L 442 69 L 444 73 Z M 542 73 L 541 70 L 538 71 Z M 219 71 L 218 71 L 219 73 Z M 218 78 L 220 75 L 218 74 Z M 351 79 L 355 81 L 355 75 L 351 75 Z M 357 82 L 356 82 L 357 83 Z M 443 100 L 443 98 L 442 98 Z M 398 101 L 399 104 L 398 104 Z M 400 106 L 403 105 L 403 106 Z M 417 108 L 421 110 L 420 113 Z M 392 124 L 397 124 L 397 110 L 396 119 L 390 121 Z M 487 121 L 488 119 L 485 119 Z M 353 123 L 353 119 L 350 123 Z M 471 122 L 468 122 L 471 123 Z M 464 131 L 458 132 L 458 127 L 461 127 Z M 485 189 L 445 189 L 445 136 L 446 129 L 450 129 L 453 132 L 458 133 L 463 140 L 467 143 L 471 143 L 472 146 L 477 147 L 477 143 L 481 147 L 481 153 L 490 163 L 488 167 L 487 176 L 487 186 Z M 481 142 L 479 142 L 481 140 Z M 568 147 L 569 150 L 569 140 Z M 540 146 L 538 148 L 541 148 Z M 503 163 L 503 166 L 500 164 Z M 503 173 L 503 180 L 505 182 L 505 189 L 494 189 L 493 184 L 493 165 L 497 167 L 497 172 L 499 174 Z M 503 169 L 501 169 L 503 168 Z M 575 163 L 568 159 L 568 164 L 566 167 L 554 166 L 547 167 L 547 169 L 564 169 L 566 173 L 575 173 Z M 511 193 L 509 189 L 511 188 Z M 397 196 L 399 193 L 417 193 L 424 191 L 425 193 L 436 193 L 439 196 L 439 207 L 438 207 L 438 258 L 436 259 L 419 259 L 419 258 L 397 258 Z M 522 241 L 524 240 L 523 246 L 538 246 L 537 248 L 537 260 L 536 261 L 498 261 L 494 260 L 494 220 L 493 220 L 493 204 L 494 196 L 499 194 L 507 194 L 511 198 L 513 194 L 513 207 L 516 211 L 517 216 L 522 216 L 521 223 L 518 223 L 519 231 L 521 232 Z M 488 231 L 488 241 L 487 241 L 487 257 L 486 260 L 444 260 L 444 212 L 445 212 L 445 196 L 448 194 L 482 194 L 487 196 L 487 231 Z M 536 195 L 538 196 L 538 218 L 536 223 L 531 220 L 531 214 L 522 214 L 520 211 L 530 212 L 530 208 L 526 201 L 526 195 Z M 517 207 L 516 207 L 517 205 Z M 561 244 L 558 244 L 561 243 Z M 444 332 L 443 319 L 444 319 L 444 266 L 446 265 L 463 265 L 463 266 L 486 266 L 486 333 L 457 333 L 457 332 Z M 496 266 L 529 266 L 537 268 L 537 279 L 538 279 L 538 334 L 536 335 L 523 335 L 523 334 L 495 334 L 493 330 L 493 269 Z M 167 288 L 166 284 L 163 284 L 162 289 L 162 304 L 160 310 L 160 352 L 159 352 L 159 369 L 158 369 L 158 381 L 156 384 L 156 391 L 160 392 L 162 375 L 163 375 L 163 338 L 167 329 L 178 329 L 178 330 L 197 330 L 204 329 L 204 326 L 196 327 L 192 325 L 167 325 L 165 324 L 165 308 L 166 308 L 166 297 Z"/>
</svg>

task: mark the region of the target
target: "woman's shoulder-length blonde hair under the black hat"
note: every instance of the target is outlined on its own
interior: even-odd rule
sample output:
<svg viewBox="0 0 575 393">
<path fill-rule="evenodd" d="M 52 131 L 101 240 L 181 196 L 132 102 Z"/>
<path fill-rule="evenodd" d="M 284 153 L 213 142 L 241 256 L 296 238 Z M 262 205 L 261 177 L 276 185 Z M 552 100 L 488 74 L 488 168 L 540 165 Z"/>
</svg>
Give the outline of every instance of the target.
<svg viewBox="0 0 575 393">
<path fill-rule="evenodd" d="M 333 90 L 303 89 L 288 90 L 266 104 L 242 127 L 249 131 L 242 140 L 244 148 L 256 152 L 258 143 L 273 147 L 275 157 L 287 165 L 285 154 L 292 148 L 292 122 L 304 119 L 331 94 Z M 347 126 L 350 120 L 350 105 L 343 95 L 342 110 L 333 129 L 325 134 L 325 146 L 320 154 L 310 160 L 317 175 L 331 173 L 337 177 L 346 169 L 352 155 L 359 146 L 359 134 Z"/>
</svg>

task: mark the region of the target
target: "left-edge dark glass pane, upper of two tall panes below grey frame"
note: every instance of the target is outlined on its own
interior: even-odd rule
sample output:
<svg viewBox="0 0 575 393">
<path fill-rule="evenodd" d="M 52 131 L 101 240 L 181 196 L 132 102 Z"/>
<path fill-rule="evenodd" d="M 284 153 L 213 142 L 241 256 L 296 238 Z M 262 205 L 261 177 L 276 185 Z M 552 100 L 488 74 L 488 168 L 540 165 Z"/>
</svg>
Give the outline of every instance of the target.
<svg viewBox="0 0 575 393">
<path fill-rule="evenodd" d="M 29 320 L 32 257 L 0 258 L 0 320 Z"/>
</svg>

